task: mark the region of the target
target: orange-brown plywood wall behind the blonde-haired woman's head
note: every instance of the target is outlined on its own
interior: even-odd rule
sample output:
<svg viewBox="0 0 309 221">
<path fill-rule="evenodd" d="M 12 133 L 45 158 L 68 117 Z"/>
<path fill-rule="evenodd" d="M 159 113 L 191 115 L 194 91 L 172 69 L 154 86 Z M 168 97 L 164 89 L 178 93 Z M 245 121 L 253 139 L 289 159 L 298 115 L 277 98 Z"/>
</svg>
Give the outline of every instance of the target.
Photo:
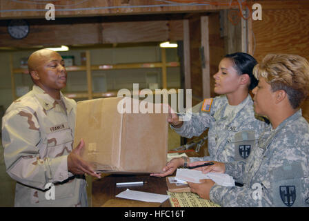
<svg viewBox="0 0 309 221">
<path fill-rule="evenodd" d="M 309 1 L 261 1 L 261 6 L 262 21 L 252 21 L 257 61 L 270 53 L 301 55 L 309 61 Z M 302 111 L 309 122 L 309 98 Z"/>
</svg>

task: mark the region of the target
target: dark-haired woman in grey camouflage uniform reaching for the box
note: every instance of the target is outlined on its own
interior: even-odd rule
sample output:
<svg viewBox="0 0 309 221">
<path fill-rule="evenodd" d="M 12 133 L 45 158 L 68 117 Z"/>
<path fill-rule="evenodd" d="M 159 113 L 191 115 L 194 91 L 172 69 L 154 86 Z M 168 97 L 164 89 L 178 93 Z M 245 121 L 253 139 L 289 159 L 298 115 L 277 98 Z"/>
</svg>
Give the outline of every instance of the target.
<svg viewBox="0 0 309 221">
<path fill-rule="evenodd" d="M 168 122 L 182 137 L 199 136 L 208 131 L 208 153 L 206 157 L 180 157 L 168 162 L 163 173 L 152 174 L 166 176 L 174 173 L 179 166 L 203 164 L 205 161 L 220 162 L 241 161 L 246 164 L 252 148 L 261 132 L 263 122 L 255 117 L 253 102 L 249 90 L 257 86 L 252 70 L 257 61 L 250 55 L 237 52 L 226 55 L 219 64 L 215 78 L 215 93 L 220 96 L 204 99 L 193 109 L 189 121 L 182 121 L 171 113 Z M 190 164 L 190 165 L 191 165 Z"/>
</svg>

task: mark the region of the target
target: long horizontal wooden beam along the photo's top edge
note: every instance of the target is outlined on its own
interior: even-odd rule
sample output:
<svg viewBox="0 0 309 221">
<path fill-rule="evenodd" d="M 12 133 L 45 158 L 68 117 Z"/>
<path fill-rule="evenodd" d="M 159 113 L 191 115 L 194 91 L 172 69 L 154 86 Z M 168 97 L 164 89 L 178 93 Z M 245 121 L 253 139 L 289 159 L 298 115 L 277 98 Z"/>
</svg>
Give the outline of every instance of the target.
<svg viewBox="0 0 309 221">
<path fill-rule="evenodd" d="M 94 17 L 106 15 L 141 15 L 157 13 L 205 12 L 230 8 L 230 0 L 208 0 L 208 4 L 188 5 L 188 3 L 172 3 L 172 1 L 130 0 L 68 0 L 50 1 L 55 6 L 55 19 L 61 17 Z M 50 3 L 48 2 L 48 3 Z M 40 18 L 45 19 L 47 10 L 43 1 L 0 1 L 0 18 Z M 232 7 L 238 7 L 232 2 Z"/>
</svg>

